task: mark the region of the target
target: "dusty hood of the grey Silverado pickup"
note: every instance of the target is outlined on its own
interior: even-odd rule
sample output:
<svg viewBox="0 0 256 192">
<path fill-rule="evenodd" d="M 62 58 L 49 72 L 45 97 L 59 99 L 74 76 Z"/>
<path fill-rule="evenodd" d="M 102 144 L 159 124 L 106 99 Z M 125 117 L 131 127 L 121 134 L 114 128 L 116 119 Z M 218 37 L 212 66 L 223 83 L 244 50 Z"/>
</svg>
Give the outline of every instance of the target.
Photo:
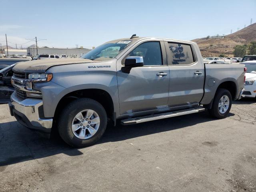
<svg viewBox="0 0 256 192">
<path fill-rule="evenodd" d="M 42 59 L 42 60 L 32 60 L 25 62 L 18 62 L 14 66 L 13 70 L 16 72 L 46 72 L 46 70 L 53 66 L 66 65 L 66 64 L 77 64 L 77 63 L 92 63 L 100 62 L 93 61 L 90 59 L 80 59 L 80 58 L 62 58 L 62 59 Z"/>
</svg>

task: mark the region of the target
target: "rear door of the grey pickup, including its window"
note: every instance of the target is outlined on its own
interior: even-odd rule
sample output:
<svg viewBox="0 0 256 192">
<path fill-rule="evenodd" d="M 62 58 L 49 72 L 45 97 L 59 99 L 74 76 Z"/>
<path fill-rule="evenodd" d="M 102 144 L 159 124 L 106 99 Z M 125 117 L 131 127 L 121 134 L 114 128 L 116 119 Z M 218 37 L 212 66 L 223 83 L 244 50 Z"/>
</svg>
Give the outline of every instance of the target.
<svg viewBox="0 0 256 192">
<path fill-rule="evenodd" d="M 183 42 L 165 42 L 170 69 L 169 107 L 197 105 L 204 94 L 204 64 L 196 47 Z"/>
</svg>

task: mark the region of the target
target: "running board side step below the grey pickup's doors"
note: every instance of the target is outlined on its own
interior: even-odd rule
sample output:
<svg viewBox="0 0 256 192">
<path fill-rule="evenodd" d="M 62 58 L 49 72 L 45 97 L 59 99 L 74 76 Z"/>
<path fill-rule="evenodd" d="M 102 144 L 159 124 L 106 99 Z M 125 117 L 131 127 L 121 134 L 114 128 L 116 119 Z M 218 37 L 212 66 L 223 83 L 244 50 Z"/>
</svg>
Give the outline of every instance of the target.
<svg viewBox="0 0 256 192">
<path fill-rule="evenodd" d="M 143 123 L 147 121 L 154 121 L 158 119 L 164 119 L 169 117 L 176 117 L 180 115 L 186 115 L 186 114 L 192 114 L 192 113 L 198 113 L 205 111 L 205 108 L 199 106 L 191 109 L 185 109 L 180 111 L 173 111 L 173 112 L 166 112 L 161 114 L 154 114 L 154 115 L 148 115 L 148 116 L 142 116 L 142 117 L 135 117 L 135 118 L 128 118 L 121 120 L 122 125 L 132 125 L 137 123 Z"/>
</svg>

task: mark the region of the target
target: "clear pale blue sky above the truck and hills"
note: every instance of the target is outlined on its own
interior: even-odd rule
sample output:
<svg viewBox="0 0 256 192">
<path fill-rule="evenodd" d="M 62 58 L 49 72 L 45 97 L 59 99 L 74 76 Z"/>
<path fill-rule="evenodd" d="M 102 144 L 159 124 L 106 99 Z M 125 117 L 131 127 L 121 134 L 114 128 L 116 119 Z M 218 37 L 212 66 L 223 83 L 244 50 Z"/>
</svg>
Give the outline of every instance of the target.
<svg viewBox="0 0 256 192">
<path fill-rule="evenodd" d="M 256 0 L 0 0 L 0 43 L 92 48 L 140 37 L 192 40 L 256 22 Z M 46 39 L 46 40 L 43 40 Z"/>
</svg>

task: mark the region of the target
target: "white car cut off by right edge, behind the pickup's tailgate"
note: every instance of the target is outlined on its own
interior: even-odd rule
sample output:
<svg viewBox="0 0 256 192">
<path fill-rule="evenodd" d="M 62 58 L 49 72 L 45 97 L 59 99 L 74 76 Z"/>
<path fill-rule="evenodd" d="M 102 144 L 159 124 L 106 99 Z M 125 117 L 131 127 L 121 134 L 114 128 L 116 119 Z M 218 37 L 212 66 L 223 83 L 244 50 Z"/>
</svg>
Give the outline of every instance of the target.
<svg viewBox="0 0 256 192">
<path fill-rule="evenodd" d="M 244 97 L 256 97 L 256 61 L 245 61 L 241 64 L 244 64 L 247 68 L 245 73 L 245 82 L 244 82 Z"/>
</svg>

